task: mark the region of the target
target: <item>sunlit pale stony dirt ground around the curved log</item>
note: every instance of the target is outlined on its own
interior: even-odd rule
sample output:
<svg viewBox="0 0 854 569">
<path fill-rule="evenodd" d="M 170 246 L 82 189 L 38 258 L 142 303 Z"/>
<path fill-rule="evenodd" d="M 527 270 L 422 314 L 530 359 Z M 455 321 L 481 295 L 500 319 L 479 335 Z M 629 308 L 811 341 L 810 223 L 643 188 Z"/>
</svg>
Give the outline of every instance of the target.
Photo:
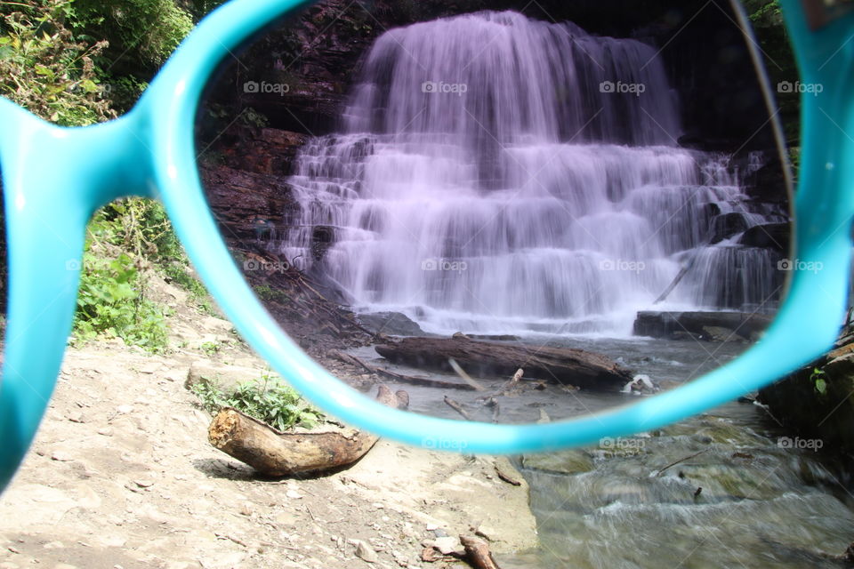
<svg viewBox="0 0 854 569">
<path fill-rule="evenodd" d="M 436 549 L 424 562 L 425 547 L 462 549 L 461 533 L 485 535 L 499 559 L 536 547 L 528 485 L 504 482 L 490 457 L 381 441 L 332 476 L 271 480 L 214 450 L 189 369 L 248 380 L 265 368 L 228 322 L 164 290 L 169 354 L 121 341 L 68 350 L 0 498 L 0 568 L 442 567 L 460 562 Z"/>
</svg>

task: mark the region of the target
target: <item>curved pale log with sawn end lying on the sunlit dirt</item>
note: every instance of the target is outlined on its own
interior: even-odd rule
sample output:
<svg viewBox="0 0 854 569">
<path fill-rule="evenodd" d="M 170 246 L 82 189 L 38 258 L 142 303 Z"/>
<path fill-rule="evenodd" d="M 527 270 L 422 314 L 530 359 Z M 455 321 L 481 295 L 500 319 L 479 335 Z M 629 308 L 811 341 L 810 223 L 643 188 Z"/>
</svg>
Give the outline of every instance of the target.
<svg viewBox="0 0 854 569">
<path fill-rule="evenodd" d="M 380 386 L 377 401 L 406 409 L 409 396 Z M 406 405 L 404 405 L 406 403 Z M 324 430 L 282 432 L 262 421 L 223 409 L 208 429 L 211 445 L 255 470 L 274 477 L 337 469 L 362 458 L 379 437 L 326 424 Z"/>
</svg>

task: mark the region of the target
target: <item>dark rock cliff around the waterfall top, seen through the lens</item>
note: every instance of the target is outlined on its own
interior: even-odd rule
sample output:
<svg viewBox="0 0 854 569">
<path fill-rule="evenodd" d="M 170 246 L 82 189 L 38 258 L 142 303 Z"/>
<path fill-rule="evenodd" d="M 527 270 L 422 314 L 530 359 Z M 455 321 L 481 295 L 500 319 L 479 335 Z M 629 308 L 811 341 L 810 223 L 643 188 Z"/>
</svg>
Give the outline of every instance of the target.
<svg viewBox="0 0 854 569">
<path fill-rule="evenodd" d="M 207 112 L 216 118 L 200 130 L 200 147 L 208 148 L 203 173 L 226 234 L 252 236 L 256 217 L 281 220 L 289 200 L 286 176 L 296 152 L 308 137 L 335 132 L 360 60 L 377 36 L 417 21 L 487 8 L 572 20 L 595 34 L 633 36 L 661 46 L 687 128 L 680 143 L 738 152 L 741 163 L 752 150 L 771 156 L 768 113 L 726 0 L 543 0 L 528 5 L 513 0 L 324 0 L 238 55 L 210 91 L 208 107 L 215 112 Z M 284 86 L 270 90 L 265 85 Z M 246 184 L 246 176 L 254 174 L 275 179 Z M 748 191 L 757 199 L 786 202 L 778 162 L 753 176 L 751 184 Z"/>
</svg>

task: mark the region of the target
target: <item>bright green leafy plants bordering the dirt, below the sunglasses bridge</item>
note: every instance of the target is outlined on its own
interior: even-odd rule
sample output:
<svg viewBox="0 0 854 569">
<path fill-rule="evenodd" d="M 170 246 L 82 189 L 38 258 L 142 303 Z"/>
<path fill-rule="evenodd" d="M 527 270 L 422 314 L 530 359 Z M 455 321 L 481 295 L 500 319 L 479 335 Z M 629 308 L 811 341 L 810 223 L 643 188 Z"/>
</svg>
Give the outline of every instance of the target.
<svg viewBox="0 0 854 569">
<path fill-rule="evenodd" d="M 150 352 L 165 349 L 163 313 L 145 298 L 144 288 L 139 268 L 125 253 L 109 260 L 87 252 L 77 296 L 77 337 L 118 337 Z"/>
</svg>

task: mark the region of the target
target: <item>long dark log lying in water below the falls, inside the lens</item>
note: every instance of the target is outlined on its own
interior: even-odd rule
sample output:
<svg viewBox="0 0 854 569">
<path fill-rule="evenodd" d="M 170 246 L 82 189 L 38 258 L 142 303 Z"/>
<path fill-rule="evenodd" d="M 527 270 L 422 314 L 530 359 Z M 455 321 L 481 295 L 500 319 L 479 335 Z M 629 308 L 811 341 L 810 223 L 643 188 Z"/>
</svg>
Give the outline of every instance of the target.
<svg viewBox="0 0 854 569">
<path fill-rule="evenodd" d="M 531 379 L 569 384 L 587 389 L 617 391 L 632 374 L 608 357 L 582 349 L 536 348 L 467 338 L 405 338 L 376 346 L 391 362 L 448 371 L 455 360 L 477 377 L 510 376 L 520 367 Z"/>
</svg>

